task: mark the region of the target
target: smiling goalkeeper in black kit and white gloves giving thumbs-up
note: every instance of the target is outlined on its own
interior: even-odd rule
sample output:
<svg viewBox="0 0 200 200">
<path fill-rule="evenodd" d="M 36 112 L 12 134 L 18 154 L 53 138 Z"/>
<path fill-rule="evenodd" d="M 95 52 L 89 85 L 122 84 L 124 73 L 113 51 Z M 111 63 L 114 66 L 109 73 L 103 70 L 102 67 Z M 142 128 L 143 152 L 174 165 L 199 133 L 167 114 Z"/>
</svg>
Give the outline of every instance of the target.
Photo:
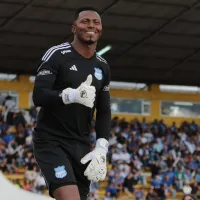
<svg viewBox="0 0 200 200">
<path fill-rule="evenodd" d="M 91 8 L 77 10 L 74 40 L 43 55 L 33 90 L 41 107 L 33 134 L 34 155 L 56 200 L 86 200 L 91 181 L 106 177 L 110 133 L 110 70 L 96 53 L 101 18 Z M 90 150 L 91 121 L 96 109 L 97 141 Z"/>
</svg>

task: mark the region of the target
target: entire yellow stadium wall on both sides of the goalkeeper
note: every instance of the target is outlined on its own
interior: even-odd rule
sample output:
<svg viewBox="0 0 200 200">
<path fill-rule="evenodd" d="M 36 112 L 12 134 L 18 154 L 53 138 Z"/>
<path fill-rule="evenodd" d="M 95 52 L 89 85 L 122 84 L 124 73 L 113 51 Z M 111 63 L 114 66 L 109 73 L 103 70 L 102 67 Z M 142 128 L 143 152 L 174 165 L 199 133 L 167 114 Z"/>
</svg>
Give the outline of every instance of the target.
<svg viewBox="0 0 200 200">
<path fill-rule="evenodd" d="M 19 94 L 19 107 L 25 109 L 29 108 L 30 94 L 33 90 L 33 83 L 29 81 L 29 76 L 19 76 L 18 79 L 13 81 L 0 81 L 0 90 L 17 92 Z M 189 122 L 195 120 L 200 124 L 200 118 L 167 117 L 161 116 L 160 114 L 160 100 L 200 102 L 200 94 L 161 92 L 159 85 L 152 84 L 148 91 L 111 89 L 111 96 L 150 100 L 151 114 L 145 116 L 148 121 L 164 119 L 165 123 L 168 125 L 171 125 L 173 121 L 176 121 L 177 125 L 179 125 L 184 120 Z M 135 114 L 113 114 L 113 116 L 125 117 L 128 121 L 133 118 L 141 120 L 144 117 L 143 115 Z"/>
</svg>

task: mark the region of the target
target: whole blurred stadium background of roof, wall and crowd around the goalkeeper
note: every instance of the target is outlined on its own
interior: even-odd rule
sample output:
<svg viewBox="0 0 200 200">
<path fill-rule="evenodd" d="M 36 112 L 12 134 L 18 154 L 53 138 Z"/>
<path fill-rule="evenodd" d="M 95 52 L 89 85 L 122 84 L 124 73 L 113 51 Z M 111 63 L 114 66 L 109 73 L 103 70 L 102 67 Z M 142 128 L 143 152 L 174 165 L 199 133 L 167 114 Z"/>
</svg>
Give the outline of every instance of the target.
<svg viewBox="0 0 200 200">
<path fill-rule="evenodd" d="M 200 0 L 0 0 L 0 199 L 48 199 L 33 83 L 44 52 L 72 41 L 81 6 L 101 13 L 112 80 L 108 173 L 88 200 L 200 199 Z"/>
</svg>

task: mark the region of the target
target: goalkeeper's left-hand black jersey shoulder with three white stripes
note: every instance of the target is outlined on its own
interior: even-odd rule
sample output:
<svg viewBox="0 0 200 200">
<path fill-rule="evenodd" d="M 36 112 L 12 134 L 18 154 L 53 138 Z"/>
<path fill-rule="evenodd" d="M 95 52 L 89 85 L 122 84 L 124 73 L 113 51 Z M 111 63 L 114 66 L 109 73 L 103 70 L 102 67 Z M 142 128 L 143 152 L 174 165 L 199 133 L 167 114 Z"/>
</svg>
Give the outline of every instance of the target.
<svg viewBox="0 0 200 200">
<path fill-rule="evenodd" d="M 42 57 L 42 61 L 48 61 L 52 58 L 59 57 L 71 52 L 71 44 L 68 42 L 49 48 Z"/>
</svg>

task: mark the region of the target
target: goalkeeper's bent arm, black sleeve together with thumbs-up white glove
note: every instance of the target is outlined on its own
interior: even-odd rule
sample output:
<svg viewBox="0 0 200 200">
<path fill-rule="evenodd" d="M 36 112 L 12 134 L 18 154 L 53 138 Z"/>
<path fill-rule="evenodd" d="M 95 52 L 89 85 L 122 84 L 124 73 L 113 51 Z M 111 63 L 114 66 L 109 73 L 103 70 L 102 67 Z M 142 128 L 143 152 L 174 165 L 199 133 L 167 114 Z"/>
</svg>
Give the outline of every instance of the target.
<svg viewBox="0 0 200 200">
<path fill-rule="evenodd" d="M 95 87 L 91 86 L 92 76 L 89 75 L 86 81 L 81 83 L 77 89 L 53 90 L 59 66 L 60 63 L 56 55 L 52 55 L 50 59 L 40 65 L 33 90 L 35 106 L 45 107 L 80 103 L 92 108 L 95 99 Z M 88 95 L 83 96 L 83 92 Z"/>
</svg>

